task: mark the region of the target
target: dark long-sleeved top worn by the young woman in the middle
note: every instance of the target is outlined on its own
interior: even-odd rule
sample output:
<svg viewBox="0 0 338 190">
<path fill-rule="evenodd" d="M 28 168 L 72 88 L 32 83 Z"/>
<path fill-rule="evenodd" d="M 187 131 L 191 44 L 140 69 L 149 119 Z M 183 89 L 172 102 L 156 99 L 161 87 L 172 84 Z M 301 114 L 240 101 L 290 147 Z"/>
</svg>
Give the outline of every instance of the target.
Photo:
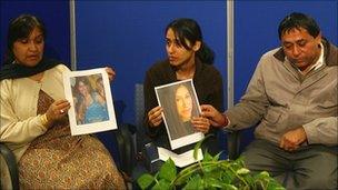
<svg viewBox="0 0 338 190">
<path fill-rule="evenodd" d="M 148 122 L 148 112 L 158 106 L 155 87 L 179 81 L 176 71 L 168 60 L 155 63 L 146 73 L 143 83 L 145 93 L 145 127 L 146 133 L 160 147 L 170 149 L 165 123 L 151 128 Z M 196 59 L 196 71 L 193 74 L 193 86 L 200 104 L 211 104 L 217 110 L 223 111 L 223 86 L 220 72 L 211 64 L 202 63 Z M 209 133 L 215 133 L 205 142 L 208 152 L 218 153 L 217 129 L 210 128 Z M 188 146 L 189 147 L 189 146 Z M 191 148 L 191 146 L 190 146 Z M 186 150 L 186 149 L 185 149 Z M 176 152 L 180 152 L 177 150 Z"/>
</svg>

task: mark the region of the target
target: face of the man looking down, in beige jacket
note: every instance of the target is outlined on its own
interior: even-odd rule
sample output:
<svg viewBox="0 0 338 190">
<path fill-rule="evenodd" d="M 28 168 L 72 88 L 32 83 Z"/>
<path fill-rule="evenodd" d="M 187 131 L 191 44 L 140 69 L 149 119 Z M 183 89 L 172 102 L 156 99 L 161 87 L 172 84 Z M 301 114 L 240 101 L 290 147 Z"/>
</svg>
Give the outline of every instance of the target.
<svg viewBox="0 0 338 190">
<path fill-rule="evenodd" d="M 321 34 L 316 38 L 304 28 L 294 28 L 281 36 L 281 46 L 286 57 L 300 70 L 314 64 L 319 56 Z"/>
</svg>

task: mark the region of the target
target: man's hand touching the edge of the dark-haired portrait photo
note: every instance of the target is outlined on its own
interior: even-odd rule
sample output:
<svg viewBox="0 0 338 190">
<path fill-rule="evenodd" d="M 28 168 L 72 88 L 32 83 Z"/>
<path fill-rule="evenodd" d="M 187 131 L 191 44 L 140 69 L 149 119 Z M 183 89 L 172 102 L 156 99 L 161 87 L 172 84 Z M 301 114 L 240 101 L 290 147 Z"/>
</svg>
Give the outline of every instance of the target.
<svg viewBox="0 0 338 190">
<path fill-rule="evenodd" d="M 228 124 L 228 119 L 217 111 L 210 104 L 201 104 L 202 117 L 208 118 L 210 123 L 215 127 L 225 127 Z"/>
</svg>

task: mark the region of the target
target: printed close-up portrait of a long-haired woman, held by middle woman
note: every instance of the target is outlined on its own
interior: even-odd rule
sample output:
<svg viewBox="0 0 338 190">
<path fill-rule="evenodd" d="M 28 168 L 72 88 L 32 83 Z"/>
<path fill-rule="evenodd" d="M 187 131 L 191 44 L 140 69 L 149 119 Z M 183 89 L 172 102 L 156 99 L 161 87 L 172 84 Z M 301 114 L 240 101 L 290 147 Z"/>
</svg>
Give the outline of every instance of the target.
<svg viewBox="0 0 338 190">
<path fill-rule="evenodd" d="M 155 91 L 159 106 L 163 108 L 162 118 L 172 150 L 205 137 L 191 123 L 191 118 L 201 113 L 191 79 L 156 87 Z"/>
</svg>

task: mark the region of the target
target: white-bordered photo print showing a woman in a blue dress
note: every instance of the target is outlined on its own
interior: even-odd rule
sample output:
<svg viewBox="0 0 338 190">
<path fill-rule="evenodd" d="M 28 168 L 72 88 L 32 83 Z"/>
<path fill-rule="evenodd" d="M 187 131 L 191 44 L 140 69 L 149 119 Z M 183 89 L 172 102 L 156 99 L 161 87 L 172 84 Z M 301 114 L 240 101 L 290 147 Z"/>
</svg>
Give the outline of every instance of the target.
<svg viewBox="0 0 338 190">
<path fill-rule="evenodd" d="M 117 129 L 109 78 L 105 69 L 63 74 L 64 94 L 72 136 Z"/>
</svg>

